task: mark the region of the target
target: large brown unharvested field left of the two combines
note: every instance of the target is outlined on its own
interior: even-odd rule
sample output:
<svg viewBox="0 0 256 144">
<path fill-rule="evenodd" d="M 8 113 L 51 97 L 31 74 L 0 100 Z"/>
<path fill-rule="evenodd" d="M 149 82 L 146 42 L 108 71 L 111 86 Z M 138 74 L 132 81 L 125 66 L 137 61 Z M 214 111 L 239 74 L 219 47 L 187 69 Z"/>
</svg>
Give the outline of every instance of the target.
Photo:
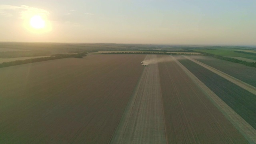
<svg viewBox="0 0 256 144">
<path fill-rule="evenodd" d="M 0 69 L 0 143 L 106 144 L 145 55 L 90 55 Z"/>
</svg>

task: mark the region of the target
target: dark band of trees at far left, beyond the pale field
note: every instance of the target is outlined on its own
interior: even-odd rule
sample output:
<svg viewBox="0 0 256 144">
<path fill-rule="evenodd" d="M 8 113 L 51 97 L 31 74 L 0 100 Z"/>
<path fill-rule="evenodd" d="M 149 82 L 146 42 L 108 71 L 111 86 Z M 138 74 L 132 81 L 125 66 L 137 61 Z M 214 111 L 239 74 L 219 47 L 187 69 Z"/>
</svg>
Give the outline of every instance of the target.
<svg viewBox="0 0 256 144">
<path fill-rule="evenodd" d="M 30 56 L 47 56 L 50 55 L 49 51 L 7 51 L 0 52 L 0 58 L 20 58 L 20 57 L 30 57 Z"/>
</svg>

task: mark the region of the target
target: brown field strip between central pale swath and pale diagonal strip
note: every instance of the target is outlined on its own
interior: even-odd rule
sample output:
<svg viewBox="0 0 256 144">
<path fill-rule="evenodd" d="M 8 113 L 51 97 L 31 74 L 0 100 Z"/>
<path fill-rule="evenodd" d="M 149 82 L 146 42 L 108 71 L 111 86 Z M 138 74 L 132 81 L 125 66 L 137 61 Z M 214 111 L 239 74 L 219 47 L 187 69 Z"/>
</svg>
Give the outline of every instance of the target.
<svg viewBox="0 0 256 144">
<path fill-rule="evenodd" d="M 174 60 L 158 68 L 168 143 L 247 143 Z"/>
</svg>

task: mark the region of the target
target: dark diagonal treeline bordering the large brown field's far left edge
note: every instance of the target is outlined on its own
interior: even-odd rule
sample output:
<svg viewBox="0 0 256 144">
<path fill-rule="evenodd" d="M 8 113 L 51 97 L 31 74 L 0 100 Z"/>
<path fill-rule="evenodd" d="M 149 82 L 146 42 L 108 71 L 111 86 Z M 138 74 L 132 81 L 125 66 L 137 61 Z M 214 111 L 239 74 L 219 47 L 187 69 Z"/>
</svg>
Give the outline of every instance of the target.
<svg viewBox="0 0 256 144">
<path fill-rule="evenodd" d="M 7 67 L 7 66 L 16 66 L 20 64 L 28 64 L 28 63 L 33 63 L 33 62 L 42 62 L 46 60 L 56 60 L 60 58 L 83 58 L 83 56 L 86 56 L 86 52 L 81 52 L 78 54 L 54 54 L 49 57 L 44 57 L 44 58 L 31 58 L 27 60 L 16 60 L 13 62 L 3 62 L 0 64 L 0 68 Z"/>
</svg>

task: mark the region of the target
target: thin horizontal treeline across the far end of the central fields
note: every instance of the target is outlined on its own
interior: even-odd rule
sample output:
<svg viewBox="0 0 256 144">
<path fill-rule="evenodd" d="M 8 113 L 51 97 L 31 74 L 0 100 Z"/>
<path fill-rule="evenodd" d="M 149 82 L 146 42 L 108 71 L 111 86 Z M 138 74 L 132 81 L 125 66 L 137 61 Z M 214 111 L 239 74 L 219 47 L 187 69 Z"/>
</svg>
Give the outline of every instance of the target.
<svg viewBox="0 0 256 144">
<path fill-rule="evenodd" d="M 201 55 L 190 53 L 170 53 L 170 52 L 102 52 L 102 54 L 169 54 L 169 55 Z"/>
</svg>

